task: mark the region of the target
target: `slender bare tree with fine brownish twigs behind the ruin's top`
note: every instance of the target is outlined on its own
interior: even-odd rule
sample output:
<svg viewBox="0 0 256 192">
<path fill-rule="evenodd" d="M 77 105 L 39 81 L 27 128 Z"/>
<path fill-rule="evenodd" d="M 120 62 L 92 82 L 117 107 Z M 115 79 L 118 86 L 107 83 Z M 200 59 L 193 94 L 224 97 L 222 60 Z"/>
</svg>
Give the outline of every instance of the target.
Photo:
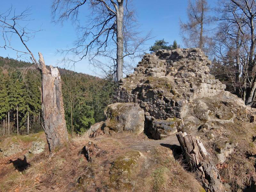
<svg viewBox="0 0 256 192">
<path fill-rule="evenodd" d="M 188 0 L 188 22 L 180 20 L 182 38 L 187 47 L 198 47 L 207 52 L 207 35 L 212 30 L 209 28 L 212 22 L 209 15 L 211 9 L 206 0 L 192 1 Z"/>
</svg>

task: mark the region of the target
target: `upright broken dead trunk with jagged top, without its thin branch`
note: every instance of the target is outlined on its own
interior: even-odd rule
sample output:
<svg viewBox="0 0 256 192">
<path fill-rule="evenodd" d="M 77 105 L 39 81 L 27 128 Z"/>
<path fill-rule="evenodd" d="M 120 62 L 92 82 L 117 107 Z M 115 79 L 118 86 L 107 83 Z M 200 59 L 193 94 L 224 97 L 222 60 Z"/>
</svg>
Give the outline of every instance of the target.
<svg viewBox="0 0 256 192">
<path fill-rule="evenodd" d="M 45 67 L 44 58 L 39 52 L 42 73 L 43 125 L 50 152 L 68 141 L 68 133 L 61 92 L 61 79 L 58 68 Z"/>
</svg>

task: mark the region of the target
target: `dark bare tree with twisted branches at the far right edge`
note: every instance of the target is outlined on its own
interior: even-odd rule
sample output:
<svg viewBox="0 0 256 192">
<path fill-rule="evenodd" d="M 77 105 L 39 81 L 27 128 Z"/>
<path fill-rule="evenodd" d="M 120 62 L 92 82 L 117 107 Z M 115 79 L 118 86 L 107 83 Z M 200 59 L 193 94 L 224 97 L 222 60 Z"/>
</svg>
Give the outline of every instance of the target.
<svg viewBox="0 0 256 192">
<path fill-rule="evenodd" d="M 232 47 L 236 63 L 236 87 L 245 104 L 252 106 L 256 95 L 256 4 L 254 0 L 221 0 L 220 7 L 220 20 L 225 23 L 225 28 L 221 32 L 224 38 L 219 40 L 219 44 L 225 44 L 224 52 Z"/>
</svg>

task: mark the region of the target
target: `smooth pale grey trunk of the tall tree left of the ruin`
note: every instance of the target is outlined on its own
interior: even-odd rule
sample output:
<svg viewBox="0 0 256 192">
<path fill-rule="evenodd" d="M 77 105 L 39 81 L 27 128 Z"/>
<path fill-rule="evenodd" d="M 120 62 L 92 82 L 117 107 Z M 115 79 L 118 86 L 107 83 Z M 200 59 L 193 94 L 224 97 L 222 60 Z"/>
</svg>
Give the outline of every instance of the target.
<svg viewBox="0 0 256 192">
<path fill-rule="evenodd" d="M 123 78 L 123 52 L 124 52 L 124 37 L 123 37 L 123 18 L 124 7 L 123 0 L 118 1 L 118 10 L 116 10 L 116 80 Z"/>
</svg>

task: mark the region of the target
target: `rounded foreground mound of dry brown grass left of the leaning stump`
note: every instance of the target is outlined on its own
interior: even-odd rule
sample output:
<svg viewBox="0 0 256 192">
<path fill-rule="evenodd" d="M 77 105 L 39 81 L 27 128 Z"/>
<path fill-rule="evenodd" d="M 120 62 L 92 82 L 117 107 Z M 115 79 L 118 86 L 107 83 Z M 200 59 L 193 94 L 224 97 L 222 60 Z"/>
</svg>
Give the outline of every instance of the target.
<svg viewBox="0 0 256 192">
<path fill-rule="evenodd" d="M 174 159 L 170 148 L 143 134 L 91 140 L 105 151 L 92 156 L 91 163 L 81 153 L 88 141 L 86 135 L 76 137 L 52 158 L 45 151 L 31 159 L 23 172 L 12 167 L 0 181 L 0 191 L 204 191 L 195 176 Z"/>
</svg>

